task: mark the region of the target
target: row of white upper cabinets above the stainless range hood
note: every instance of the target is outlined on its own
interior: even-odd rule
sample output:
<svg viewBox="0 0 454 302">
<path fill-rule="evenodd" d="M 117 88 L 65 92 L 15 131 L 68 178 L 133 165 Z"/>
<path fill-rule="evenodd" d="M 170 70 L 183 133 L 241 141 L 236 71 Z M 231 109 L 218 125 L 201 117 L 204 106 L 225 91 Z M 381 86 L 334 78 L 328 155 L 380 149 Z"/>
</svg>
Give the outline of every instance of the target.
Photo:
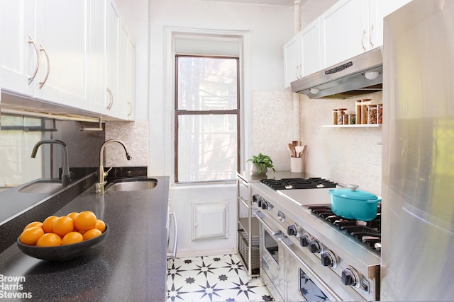
<svg viewBox="0 0 454 302">
<path fill-rule="evenodd" d="M 339 0 L 284 44 L 284 86 L 383 44 L 383 18 L 411 0 Z"/>
</svg>

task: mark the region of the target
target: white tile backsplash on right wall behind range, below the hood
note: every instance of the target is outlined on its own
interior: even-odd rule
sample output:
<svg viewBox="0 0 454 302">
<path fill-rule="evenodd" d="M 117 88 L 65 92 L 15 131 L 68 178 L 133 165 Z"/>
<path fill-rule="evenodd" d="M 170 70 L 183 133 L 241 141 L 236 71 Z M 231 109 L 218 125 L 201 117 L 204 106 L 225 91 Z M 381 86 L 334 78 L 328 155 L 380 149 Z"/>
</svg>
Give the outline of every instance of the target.
<svg viewBox="0 0 454 302">
<path fill-rule="evenodd" d="M 348 113 L 354 113 L 355 100 L 361 98 L 382 103 L 382 93 L 348 100 L 311 100 L 301 95 L 301 140 L 308 145 L 306 171 L 380 195 L 382 127 L 322 127 L 332 123 L 333 109 L 348 108 Z"/>
</svg>

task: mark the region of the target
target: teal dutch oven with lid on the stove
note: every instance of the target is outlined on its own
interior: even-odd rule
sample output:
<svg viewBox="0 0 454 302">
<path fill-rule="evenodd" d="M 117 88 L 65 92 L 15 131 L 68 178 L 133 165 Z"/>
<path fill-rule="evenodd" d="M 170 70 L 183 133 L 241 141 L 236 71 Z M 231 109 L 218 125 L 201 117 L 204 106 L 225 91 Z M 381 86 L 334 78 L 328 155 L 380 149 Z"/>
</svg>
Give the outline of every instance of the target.
<svg viewBox="0 0 454 302">
<path fill-rule="evenodd" d="M 348 185 L 349 189 L 332 189 L 331 211 L 345 219 L 370 221 L 377 216 L 378 202 L 382 199 L 372 193 L 356 190 L 357 185 Z"/>
</svg>

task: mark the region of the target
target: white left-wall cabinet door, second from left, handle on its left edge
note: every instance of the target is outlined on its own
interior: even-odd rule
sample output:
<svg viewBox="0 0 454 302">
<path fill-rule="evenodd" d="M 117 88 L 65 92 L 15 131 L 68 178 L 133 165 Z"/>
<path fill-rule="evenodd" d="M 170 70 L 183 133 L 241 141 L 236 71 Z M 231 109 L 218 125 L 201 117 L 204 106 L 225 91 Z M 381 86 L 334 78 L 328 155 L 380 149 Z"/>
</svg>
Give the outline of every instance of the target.
<svg viewBox="0 0 454 302">
<path fill-rule="evenodd" d="M 35 97 L 87 109 L 87 1 L 36 1 L 42 47 Z"/>
</svg>

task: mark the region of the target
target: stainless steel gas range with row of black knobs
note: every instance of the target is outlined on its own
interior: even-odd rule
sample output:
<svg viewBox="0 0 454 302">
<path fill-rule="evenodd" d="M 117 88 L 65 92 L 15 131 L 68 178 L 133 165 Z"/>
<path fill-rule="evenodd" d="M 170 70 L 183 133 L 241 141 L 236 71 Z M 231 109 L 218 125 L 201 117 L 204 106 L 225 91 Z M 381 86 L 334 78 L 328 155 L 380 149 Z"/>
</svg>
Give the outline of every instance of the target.
<svg viewBox="0 0 454 302">
<path fill-rule="evenodd" d="M 365 223 L 330 213 L 332 187 L 336 183 L 323 178 L 251 185 L 260 221 L 260 277 L 277 301 L 380 297 L 380 214 Z"/>
</svg>

